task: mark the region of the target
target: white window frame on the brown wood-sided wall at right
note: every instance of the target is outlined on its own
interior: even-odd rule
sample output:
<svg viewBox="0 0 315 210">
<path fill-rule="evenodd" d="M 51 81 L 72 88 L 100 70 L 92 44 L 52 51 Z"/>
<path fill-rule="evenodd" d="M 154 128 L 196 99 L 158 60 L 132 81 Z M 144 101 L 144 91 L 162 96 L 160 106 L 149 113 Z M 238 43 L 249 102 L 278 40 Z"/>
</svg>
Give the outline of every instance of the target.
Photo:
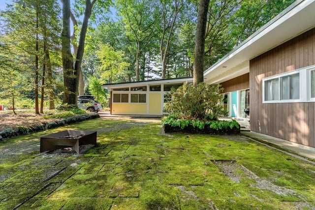
<svg viewBox="0 0 315 210">
<path fill-rule="evenodd" d="M 315 70 L 315 65 L 307 66 L 304 68 L 296 69 L 293 71 L 285 72 L 282 74 L 273 75 L 262 79 L 262 103 L 297 103 L 297 102 L 312 102 L 312 81 L 311 71 Z M 282 77 L 299 73 L 299 99 L 281 100 L 281 79 Z M 279 79 L 279 100 L 265 100 L 265 82 L 272 79 Z"/>
</svg>

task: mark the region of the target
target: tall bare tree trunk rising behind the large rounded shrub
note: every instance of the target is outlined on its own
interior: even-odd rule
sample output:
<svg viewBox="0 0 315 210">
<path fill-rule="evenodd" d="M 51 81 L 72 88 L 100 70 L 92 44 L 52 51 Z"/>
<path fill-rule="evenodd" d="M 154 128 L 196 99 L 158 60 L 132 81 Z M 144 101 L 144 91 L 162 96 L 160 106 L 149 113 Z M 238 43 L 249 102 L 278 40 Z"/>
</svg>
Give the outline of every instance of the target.
<svg viewBox="0 0 315 210">
<path fill-rule="evenodd" d="M 209 0 L 200 0 L 198 10 L 198 20 L 196 27 L 193 86 L 196 87 L 203 82 L 204 53 L 205 53 L 205 33 L 207 25 Z"/>
</svg>

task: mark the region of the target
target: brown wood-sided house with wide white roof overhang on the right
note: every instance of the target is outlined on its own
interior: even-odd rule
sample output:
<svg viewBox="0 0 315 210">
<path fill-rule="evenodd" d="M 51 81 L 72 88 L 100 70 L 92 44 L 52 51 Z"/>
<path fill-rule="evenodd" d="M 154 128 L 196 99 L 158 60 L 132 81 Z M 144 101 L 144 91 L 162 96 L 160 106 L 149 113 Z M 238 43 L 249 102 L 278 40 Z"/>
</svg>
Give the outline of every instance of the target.
<svg viewBox="0 0 315 210">
<path fill-rule="evenodd" d="M 315 147 L 315 0 L 297 0 L 204 72 L 229 116 L 251 130 Z"/>
</svg>

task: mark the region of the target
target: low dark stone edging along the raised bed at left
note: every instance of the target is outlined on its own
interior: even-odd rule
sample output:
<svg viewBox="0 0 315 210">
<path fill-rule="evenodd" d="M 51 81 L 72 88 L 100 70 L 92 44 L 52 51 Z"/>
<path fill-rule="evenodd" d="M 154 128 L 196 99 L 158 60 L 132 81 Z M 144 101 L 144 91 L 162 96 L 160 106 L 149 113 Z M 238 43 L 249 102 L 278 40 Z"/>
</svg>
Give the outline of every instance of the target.
<svg viewBox="0 0 315 210">
<path fill-rule="evenodd" d="M 63 120 L 56 120 L 53 122 L 46 122 L 41 125 L 36 125 L 34 127 L 27 127 L 27 126 L 20 126 L 17 129 L 7 128 L 0 132 L 0 141 L 4 139 L 8 139 L 14 136 L 23 135 L 23 134 L 30 134 L 37 131 L 47 130 L 67 124 L 72 124 L 75 122 L 81 122 L 85 120 L 91 120 L 95 118 L 99 118 L 99 114 L 86 114 L 86 115 L 77 115 Z"/>
</svg>

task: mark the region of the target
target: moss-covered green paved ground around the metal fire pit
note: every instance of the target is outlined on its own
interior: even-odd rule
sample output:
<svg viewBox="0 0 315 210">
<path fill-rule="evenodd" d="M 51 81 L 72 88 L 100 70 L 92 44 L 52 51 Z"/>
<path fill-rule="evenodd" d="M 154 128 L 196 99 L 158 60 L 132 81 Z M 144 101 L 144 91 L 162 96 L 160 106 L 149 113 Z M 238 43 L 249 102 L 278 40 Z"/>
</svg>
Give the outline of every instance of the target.
<svg viewBox="0 0 315 210">
<path fill-rule="evenodd" d="M 96 130 L 84 154 L 39 138 Z M 315 209 L 315 165 L 243 136 L 161 134 L 160 122 L 88 120 L 0 142 L 0 209 Z"/>
</svg>

